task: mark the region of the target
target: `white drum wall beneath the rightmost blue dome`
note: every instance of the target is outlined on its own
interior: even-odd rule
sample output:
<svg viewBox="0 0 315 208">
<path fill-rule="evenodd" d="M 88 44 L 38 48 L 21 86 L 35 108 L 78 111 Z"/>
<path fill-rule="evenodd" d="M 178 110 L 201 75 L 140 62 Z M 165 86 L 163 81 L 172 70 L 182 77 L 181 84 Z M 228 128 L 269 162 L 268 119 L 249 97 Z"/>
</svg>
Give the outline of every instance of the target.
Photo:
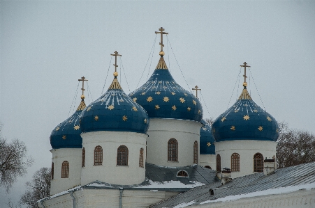
<svg viewBox="0 0 315 208">
<path fill-rule="evenodd" d="M 274 141 L 221 141 L 216 142 L 216 156 L 221 156 L 221 169 L 231 168 L 231 155 L 240 154 L 240 171 L 232 172 L 232 178 L 254 173 L 254 154 L 263 154 L 272 159 L 276 155 L 277 142 Z"/>
</svg>

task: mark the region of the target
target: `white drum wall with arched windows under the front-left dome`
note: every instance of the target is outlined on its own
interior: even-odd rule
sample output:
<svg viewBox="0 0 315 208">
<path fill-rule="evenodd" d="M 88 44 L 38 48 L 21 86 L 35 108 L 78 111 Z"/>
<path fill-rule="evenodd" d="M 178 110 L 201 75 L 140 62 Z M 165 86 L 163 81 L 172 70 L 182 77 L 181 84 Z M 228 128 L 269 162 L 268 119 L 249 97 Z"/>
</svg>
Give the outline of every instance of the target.
<svg viewBox="0 0 315 208">
<path fill-rule="evenodd" d="M 94 131 L 81 134 L 85 147 L 85 167 L 81 184 L 96 180 L 109 184 L 140 184 L 145 180 L 145 142 L 147 134 L 124 131 Z M 94 166 L 94 149 L 103 148 L 103 163 Z M 128 166 L 117 166 L 117 148 L 125 145 L 129 151 Z M 139 167 L 140 148 L 143 148 L 143 168 Z"/>
</svg>

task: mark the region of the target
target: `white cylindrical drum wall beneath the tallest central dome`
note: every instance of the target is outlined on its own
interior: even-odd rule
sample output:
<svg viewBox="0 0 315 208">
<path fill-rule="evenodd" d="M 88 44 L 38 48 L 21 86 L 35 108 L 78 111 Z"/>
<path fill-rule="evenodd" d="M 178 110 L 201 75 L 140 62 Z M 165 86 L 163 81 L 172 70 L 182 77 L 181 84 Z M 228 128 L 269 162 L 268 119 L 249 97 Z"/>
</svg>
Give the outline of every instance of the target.
<svg viewBox="0 0 315 208">
<path fill-rule="evenodd" d="M 150 119 L 147 138 L 147 162 L 159 166 L 189 166 L 193 164 L 193 143 L 200 145 L 200 122 L 175 119 Z M 178 142 L 178 161 L 168 161 L 168 141 Z M 198 151 L 199 152 L 199 151 Z M 199 153 L 198 153 L 199 156 Z M 199 158 L 198 158 L 199 161 Z"/>
</svg>

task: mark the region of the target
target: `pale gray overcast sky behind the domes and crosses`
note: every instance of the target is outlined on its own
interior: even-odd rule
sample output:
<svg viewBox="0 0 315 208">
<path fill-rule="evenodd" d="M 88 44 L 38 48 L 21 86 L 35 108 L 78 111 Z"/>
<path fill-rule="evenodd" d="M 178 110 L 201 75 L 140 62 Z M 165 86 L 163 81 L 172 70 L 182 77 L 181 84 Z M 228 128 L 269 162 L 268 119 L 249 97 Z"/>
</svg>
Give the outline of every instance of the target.
<svg viewBox="0 0 315 208">
<path fill-rule="evenodd" d="M 10 194 L 0 189 L 0 201 L 17 200 L 24 182 L 50 167 L 50 133 L 67 118 L 80 77 L 89 79 L 91 95 L 98 98 L 114 60 L 110 54 L 117 50 L 124 91 L 137 87 L 143 70 L 140 85 L 145 83 L 159 61 L 154 31 L 161 26 L 169 33 L 164 51 L 170 72 L 184 88 L 202 89 L 204 118 L 226 111 L 231 96 L 229 106 L 235 102 L 242 90 L 237 75 L 246 61 L 254 101 L 277 120 L 315 134 L 315 1 L 0 1 L 0 6 L 2 134 L 24 141 L 35 160 Z M 79 103 L 80 92 L 75 108 Z"/>
</svg>

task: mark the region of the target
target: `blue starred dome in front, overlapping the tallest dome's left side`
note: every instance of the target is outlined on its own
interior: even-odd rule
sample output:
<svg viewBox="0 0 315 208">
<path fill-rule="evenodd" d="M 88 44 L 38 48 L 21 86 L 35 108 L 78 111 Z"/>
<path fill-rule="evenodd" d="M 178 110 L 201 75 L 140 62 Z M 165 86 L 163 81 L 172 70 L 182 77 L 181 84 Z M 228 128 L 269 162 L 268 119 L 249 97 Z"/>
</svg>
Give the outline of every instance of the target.
<svg viewBox="0 0 315 208">
<path fill-rule="evenodd" d="M 149 117 L 124 93 L 115 77 L 107 92 L 82 111 L 80 127 L 82 132 L 131 131 L 146 134 Z"/>
</svg>

